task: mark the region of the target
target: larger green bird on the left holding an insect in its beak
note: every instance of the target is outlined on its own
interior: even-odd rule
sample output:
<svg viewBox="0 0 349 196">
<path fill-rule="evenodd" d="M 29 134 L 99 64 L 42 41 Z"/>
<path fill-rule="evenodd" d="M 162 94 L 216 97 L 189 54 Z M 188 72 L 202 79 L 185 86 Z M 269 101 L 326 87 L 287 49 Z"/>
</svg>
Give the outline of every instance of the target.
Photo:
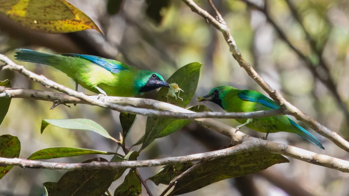
<svg viewBox="0 0 349 196">
<path fill-rule="evenodd" d="M 116 60 L 84 54 L 46 54 L 28 49 L 17 49 L 18 61 L 52 66 L 77 84 L 100 96 L 132 97 L 159 87 L 169 87 L 161 75 L 139 70 Z M 99 98 L 98 97 L 98 98 Z"/>
</svg>

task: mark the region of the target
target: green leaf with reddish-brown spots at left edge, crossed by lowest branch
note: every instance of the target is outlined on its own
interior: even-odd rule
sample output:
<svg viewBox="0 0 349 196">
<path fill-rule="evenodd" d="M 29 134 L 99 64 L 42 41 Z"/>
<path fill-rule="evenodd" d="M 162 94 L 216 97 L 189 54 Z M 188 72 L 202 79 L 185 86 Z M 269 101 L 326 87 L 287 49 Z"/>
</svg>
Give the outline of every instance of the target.
<svg viewBox="0 0 349 196">
<path fill-rule="evenodd" d="M 21 142 L 18 137 L 12 135 L 0 136 L 0 157 L 18 158 L 21 152 Z M 0 179 L 7 174 L 13 165 L 0 164 Z"/>
</svg>

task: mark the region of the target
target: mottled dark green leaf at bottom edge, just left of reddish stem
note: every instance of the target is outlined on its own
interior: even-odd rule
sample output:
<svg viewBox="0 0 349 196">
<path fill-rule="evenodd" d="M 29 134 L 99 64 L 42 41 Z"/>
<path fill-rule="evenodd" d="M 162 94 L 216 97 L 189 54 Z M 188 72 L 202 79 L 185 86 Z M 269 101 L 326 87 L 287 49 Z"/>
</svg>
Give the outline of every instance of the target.
<svg viewBox="0 0 349 196">
<path fill-rule="evenodd" d="M 142 194 L 142 184 L 137 177 L 135 169 L 130 169 L 128 174 L 125 176 L 124 182 L 118 186 L 114 191 L 114 196 L 124 196 L 124 195 L 141 195 Z"/>
</svg>

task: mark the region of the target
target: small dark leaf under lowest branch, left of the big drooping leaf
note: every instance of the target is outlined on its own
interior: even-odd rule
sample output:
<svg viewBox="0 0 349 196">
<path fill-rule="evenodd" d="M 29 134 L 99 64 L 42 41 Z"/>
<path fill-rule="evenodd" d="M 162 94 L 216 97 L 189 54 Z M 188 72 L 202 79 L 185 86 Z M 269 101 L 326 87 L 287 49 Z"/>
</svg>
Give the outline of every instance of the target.
<svg viewBox="0 0 349 196">
<path fill-rule="evenodd" d="M 156 184 L 156 186 L 159 186 L 160 183 L 168 185 L 174 177 L 185 172 L 193 165 L 194 164 L 192 163 L 165 165 L 154 176 L 148 178 L 147 180 L 153 181 Z"/>
</svg>

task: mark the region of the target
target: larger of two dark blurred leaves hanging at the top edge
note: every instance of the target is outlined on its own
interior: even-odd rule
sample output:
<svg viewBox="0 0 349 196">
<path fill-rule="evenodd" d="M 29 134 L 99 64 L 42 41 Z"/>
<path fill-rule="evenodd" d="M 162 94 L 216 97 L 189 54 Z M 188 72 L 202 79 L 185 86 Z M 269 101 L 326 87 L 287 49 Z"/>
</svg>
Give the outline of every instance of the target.
<svg viewBox="0 0 349 196">
<path fill-rule="evenodd" d="M 147 16 L 153 19 L 156 24 L 161 23 L 165 11 L 170 5 L 170 0 L 146 0 L 146 3 L 148 5 Z"/>
</svg>

